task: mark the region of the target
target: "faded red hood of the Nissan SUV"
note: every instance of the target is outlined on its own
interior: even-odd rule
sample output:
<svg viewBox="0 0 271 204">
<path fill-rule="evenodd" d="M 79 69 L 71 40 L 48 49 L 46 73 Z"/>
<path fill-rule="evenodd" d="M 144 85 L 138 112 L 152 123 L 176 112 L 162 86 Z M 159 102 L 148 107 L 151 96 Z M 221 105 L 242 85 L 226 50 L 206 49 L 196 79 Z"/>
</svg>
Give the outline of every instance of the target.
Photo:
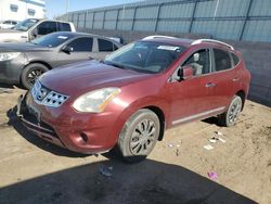
<svg viewBox="0 0 271 204">
<path fill-rule="evenodd" d="M 99 88 L 122 87 L 150 75 L 86 61 L 49 71 L 39 80 L 51 90 L 76 97 Z"/>
</svg>

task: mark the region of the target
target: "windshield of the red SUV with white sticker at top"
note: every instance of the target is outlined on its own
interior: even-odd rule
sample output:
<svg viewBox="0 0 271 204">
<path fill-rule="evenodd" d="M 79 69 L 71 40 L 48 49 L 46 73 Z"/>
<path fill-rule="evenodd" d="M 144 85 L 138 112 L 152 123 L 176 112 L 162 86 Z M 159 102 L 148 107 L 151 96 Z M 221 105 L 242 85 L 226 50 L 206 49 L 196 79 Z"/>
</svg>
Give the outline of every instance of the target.
<svg viewBox="0 0 271 204">
<path fill-rule="evenodd" d="M 138 41 L 105 58 L 104 63 L 144 73 L 165 71 L 183 52 L 184 47 L 162 42 Z"/>
</svg>

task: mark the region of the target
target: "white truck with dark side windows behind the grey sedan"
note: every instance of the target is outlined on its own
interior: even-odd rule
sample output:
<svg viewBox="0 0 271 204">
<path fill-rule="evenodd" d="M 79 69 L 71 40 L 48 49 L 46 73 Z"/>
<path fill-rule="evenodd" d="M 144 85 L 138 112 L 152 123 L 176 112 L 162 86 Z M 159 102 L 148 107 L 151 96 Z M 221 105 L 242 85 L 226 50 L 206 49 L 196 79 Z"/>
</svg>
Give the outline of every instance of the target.
<svg viewBox="0 0 271 204">
<path fill-rule="evenodd" d="M 26 42 L 54 31 L 75 31 L 73 23 L 55 20 L 27 18 L 13 29 L 0 30 L 0 42 Z"/>
</svg>

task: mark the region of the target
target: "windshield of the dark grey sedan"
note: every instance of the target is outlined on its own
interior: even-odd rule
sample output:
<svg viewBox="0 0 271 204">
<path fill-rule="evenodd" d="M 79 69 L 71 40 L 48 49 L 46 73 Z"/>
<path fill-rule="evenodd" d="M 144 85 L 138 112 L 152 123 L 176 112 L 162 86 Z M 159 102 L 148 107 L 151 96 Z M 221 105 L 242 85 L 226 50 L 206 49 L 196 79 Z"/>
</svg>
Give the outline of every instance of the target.
<svg viewBox="0 0 271 204">
<path fill-rule="evenodd" d="M 42 36 L 40 38 L 37 38 L 35 40 L 31 40 L 31 43 L 44 46 L 49 48 L 55 48 L 68 39 L 70 39 L 73 35 L 70 34 L 62 34 L 62 33 L 53 33 L 46 36 Z"/>
</svg>

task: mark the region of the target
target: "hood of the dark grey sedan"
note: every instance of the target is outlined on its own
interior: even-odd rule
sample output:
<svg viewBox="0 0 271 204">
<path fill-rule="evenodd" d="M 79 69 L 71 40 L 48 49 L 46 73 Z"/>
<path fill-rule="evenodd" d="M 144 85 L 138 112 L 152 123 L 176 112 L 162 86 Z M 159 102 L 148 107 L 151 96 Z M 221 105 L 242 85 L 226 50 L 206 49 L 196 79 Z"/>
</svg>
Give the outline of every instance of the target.
<svg viewBox="0 0 271 204">
<path fill-rule="evenodd" d="M 29 51 L 47 51 L 50 48 L 34 44 L 30 42 L 2 42 L 0 43 L 0 52 L 29 52 Z"/>
</svg>

